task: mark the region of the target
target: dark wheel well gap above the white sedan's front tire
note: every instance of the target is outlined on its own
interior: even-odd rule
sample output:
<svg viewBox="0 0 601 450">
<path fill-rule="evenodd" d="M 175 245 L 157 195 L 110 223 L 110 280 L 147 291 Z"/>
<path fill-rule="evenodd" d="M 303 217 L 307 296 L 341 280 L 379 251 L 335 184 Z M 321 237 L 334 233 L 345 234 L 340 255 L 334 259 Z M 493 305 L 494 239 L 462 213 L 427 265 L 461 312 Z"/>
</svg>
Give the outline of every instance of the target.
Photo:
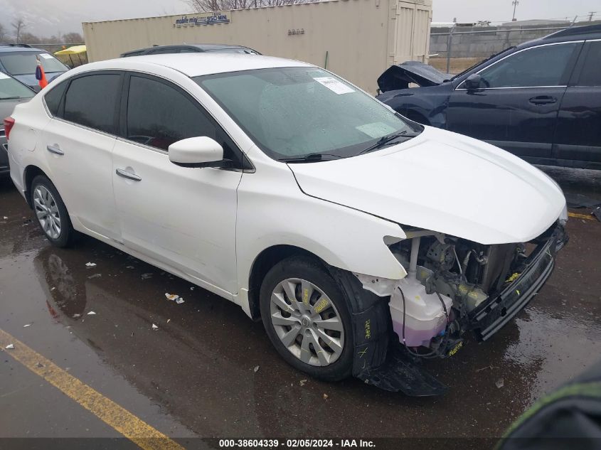
<svg viewBox="0 0 601 450">
<path fill-rule="evenodd" d="M 252 263 L 252 268 L 250 269 L 250 277 L 248 280 L 248 303 L 250 306 L 250 314 L 254 320 L 258 320 L 261 316 L 259 293 L 265 275 L 267 275 L 267 272 L 269 272 L 275 264 L 294 255 L 308 256 L 321 261 L 321 259 L 312 252 L 308 252 L 300 247 L 294 247 L 294 245 L 274 245 L 273 247 L 269 247 L 260 252 L 259 256 L 255 258 L 255 262 Z"/>
</svg>

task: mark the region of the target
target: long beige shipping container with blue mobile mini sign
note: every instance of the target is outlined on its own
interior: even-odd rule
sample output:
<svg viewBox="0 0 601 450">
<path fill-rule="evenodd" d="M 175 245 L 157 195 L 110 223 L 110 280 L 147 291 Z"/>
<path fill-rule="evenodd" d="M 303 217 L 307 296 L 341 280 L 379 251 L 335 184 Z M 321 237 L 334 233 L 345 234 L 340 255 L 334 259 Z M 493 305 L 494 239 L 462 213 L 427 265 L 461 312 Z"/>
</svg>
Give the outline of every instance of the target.
<svg viewBox="0 0 601 450">
<path fill-rule="evenodd" d="M 229 23 L 175 25 L 182 16 L 83 23 L 90 61 L 153 44 L 234 43 L 327 68 L 368 92 L 393 63 L 427 62 L 432 0 L 341 0 L 224 11 Z M 206 14 L 188 14 L 189 18 Z M 289 34 L 302 30 L 302 34 Z"/>
</svg>

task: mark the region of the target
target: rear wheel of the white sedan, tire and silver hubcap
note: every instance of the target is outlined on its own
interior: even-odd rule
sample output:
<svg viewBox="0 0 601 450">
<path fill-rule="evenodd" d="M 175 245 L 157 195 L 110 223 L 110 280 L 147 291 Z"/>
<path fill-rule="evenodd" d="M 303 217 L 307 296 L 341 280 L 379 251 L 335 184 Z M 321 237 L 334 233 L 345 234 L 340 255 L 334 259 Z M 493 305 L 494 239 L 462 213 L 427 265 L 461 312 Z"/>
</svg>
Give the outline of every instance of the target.
<svg viewBox="0 0 601 450">
<path fill-rule="evenodd" d="M 73 229 L 63 199 L 47 176 L 38 175 L 31 182 L 31 206 L 46 238 L 56 247 L 73 244 L 77 232 Z"/>
</svg>

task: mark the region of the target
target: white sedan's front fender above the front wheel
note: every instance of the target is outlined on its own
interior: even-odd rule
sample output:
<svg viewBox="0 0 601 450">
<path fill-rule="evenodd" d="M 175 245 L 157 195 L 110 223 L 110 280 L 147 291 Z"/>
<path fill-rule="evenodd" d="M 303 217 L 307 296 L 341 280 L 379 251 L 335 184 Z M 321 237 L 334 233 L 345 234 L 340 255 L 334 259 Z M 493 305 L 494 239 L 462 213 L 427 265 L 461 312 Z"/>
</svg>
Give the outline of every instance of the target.
<svg viewBox="0 0 601 450">
<path fill-rule="evenodd" d="M 398 224 L 302 193 L 287 168 L 273 176 L 256 175 L 245 173 L 238 188 L 240 289 L 248 289 L 257 255 L 275 245 L 302 248 L 349 272 L 405 277 L 405 269 L 384 242 L 387 236 L 388 243 L 405 238 Z"/>
</svg>

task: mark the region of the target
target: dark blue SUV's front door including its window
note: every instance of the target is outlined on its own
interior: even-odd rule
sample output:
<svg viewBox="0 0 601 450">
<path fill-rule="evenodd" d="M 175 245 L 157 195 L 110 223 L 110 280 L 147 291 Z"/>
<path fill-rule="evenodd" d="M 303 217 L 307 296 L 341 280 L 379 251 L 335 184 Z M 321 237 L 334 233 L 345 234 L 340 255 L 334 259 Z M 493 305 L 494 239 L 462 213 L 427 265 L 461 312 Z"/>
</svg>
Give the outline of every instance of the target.
<svg viewBox="0 0 601 450">
<path fill-rule="evenodd" d="M 559 106 L 582 43 L 519 50 L 480 70 L 481 87 L 454 90 L 447 127 L 518 156 L 551 156 Z"/>
</svg>

